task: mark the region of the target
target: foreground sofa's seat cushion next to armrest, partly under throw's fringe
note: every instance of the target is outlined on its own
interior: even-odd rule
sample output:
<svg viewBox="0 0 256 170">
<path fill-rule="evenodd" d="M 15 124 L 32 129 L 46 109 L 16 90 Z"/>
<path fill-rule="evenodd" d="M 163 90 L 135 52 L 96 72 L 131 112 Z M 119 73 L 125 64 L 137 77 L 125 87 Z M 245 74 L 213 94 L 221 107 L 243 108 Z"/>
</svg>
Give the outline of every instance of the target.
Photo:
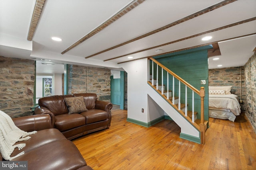
<svg viewBox="0 0 256 170">
<path fill-rule="evenodd" d="M 64 137 L 64 135 L 58 129 L 44 129 L 41 131 L 37 131 L 37 133 L 29 136 L 31 138 L 28 139 L 27 141 L 20 141 L 15 143 L 15 145 L 20 143 L 25 143 L 26 146 L 22 150 L 18 150 L 18 148 L 15 148 L 11 154 L 11 157 L 17 155 L 22 151 L 26 153 L 38 147 L 48 145 L 49 143 L 52 143 L 55 141 L 66 140 L 66 137 Z"/>
</svg>

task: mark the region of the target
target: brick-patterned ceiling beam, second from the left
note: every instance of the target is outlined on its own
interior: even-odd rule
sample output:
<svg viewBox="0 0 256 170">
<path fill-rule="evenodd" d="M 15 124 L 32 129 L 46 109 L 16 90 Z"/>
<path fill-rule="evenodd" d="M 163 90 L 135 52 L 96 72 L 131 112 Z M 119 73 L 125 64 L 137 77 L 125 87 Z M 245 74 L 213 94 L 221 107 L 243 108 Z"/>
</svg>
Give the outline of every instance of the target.
<svg viewBox="0 0 256 170">
<path fill-rule="evenodd" d="M 121 18 L 122 16 L 124 16 L 125 14 L 127 14 L 128 12 L 130 12 L 132 9 L 134 9 L 136 6 L 140 5 L 142 2 L 144 2 L 145 0 L 134 0 L 132 1 L 130 4 L 128 4 L 127 6 L 125 6 L 124 8 L 122 8 L 118 13 L 116 13 L 114 16 L 112 16 L 110 19 L 108 19 L 107 21 L 105 21 L 104 23 L 102 23 L 100 26 L 98 26 L 97 28 L 95 28 L 94 30 L 92 30 L 90 33 L 88 33 L 87 35 L 85 35 L 84 37 L 82 37 L 81 39 L 79 39 L 78 41 L 76 41 L 74 44 L 72 44 L 70 47 L 68 47 L 67 49 L 65 49 L 64 51 L 62 51 L 61 54 L 65 54 L 66 52 L 70 51 L 71 49 L 73 49 L 74 47 L 78 46 L 79 44 L 81 44 L 82 42 L 86 41 L 87 39 L 89 39 L 90 37 L 92 37 L 93 35 L 95 35 L 96 33 L 102 31 L 102 29 L 106 28 L 108 25 L 110 25 L 111 23 L 113 23 L 114 21 L 118 20 L 119 18 Z"/>
</svg>

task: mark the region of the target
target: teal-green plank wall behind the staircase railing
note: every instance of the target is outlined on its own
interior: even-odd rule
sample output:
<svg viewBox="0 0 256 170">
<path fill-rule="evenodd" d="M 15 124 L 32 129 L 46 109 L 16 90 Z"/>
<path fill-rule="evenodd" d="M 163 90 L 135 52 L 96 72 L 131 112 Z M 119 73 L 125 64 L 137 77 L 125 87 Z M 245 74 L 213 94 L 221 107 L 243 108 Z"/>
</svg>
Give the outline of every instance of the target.
<svg viewBox="0 0 256 170">
<path fill-rule="evenodd" d="M 172 72 L 180 76 L 189 84 L 200 90 L 200 87 L 205 89 L 204 98 L 204 119 L 208 120 L 208 49 L 212 47 L 205 46 L 186 51 L 180 51 L 177 53 L 171 53 L 169 55 L 160 55 L 154 57 L 158 62 L 169 68 Z M 152 63 L 150 66 L 150 72 L 152 71 Z M 162 69 L 158 68 L 158 83 L 162 84 Z M 156 79 L 156 64 L 154 64 L 154 79 Z M 201 85 L 201 80 L 206 80 L 205 85 Z M 165 90 L 167 90 L 167 72 L 164 71 L 163 82 Z M 174 96 L 178 97 L 178 80 L 174 79 L 175 89 Z M 185 85 L 181 83 L 181 103 L 185 103 Z M 172 90 L 172 75 L 169 74 L 169 91 Z M 192 110 L 192 90 L 188 90 L 188 110 Z M 201 111 L 200 96 L 194 94 L 194 111 L 198 112 L 198 118 L 200 118 Z"/>
</svg>

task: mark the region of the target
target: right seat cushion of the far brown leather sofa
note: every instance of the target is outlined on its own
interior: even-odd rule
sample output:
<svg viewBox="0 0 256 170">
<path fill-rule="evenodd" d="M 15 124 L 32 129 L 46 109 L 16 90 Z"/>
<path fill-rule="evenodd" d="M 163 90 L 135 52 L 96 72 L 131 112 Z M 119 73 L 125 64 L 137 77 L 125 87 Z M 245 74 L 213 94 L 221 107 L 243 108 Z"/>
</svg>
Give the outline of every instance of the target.
<svg viewBox="0 0 256 170">
<path fill-rule="evenodd" d="M 86 124 L 95 123 L 108 119 L 108 113 L 100 109 L 90 109 L 80 113 L 86 118 Z"/>
</svg>

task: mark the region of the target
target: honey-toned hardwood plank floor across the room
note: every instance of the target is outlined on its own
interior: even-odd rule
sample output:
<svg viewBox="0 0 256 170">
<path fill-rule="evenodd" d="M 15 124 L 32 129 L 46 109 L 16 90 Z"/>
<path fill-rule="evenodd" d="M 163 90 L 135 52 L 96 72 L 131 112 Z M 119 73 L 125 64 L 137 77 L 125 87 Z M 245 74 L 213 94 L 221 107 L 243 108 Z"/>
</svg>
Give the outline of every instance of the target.
<svg viewBox="0 0 256 170">
<path fill-rule="evenodd" d="M 235 122 L 210 118 L 205 145 L 180 139 L 174 121 L 147 128 L 126 118 L 126 110 L 112 110 L 110 129 L 73 140 L 94 170 L 256 169 L 256 133 L 244 114 Z"/>
</svg>

